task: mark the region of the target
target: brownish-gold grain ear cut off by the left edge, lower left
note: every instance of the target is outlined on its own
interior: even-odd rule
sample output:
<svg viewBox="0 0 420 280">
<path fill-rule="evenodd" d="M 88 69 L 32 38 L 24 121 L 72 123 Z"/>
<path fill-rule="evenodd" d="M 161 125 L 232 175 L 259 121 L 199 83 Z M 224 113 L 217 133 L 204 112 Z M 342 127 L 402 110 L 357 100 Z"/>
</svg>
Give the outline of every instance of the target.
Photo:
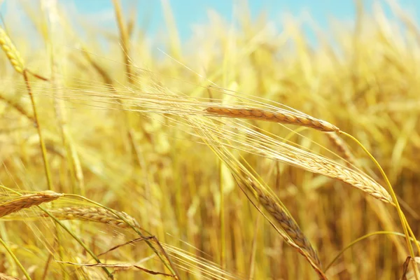
<svg viewBox="0 0 420 280">
<path fill-rule="evenodd" d="M 22 195 L 13 200 L 8 200 L 0 204 L 0 217 L 15 213 L 22 209 L 26 209 L 45 202 L 51 202 L 62 197 L 61 193 L 54 193 L 52 191 L 45 191 L 41 193 L 35 193 L 30 195 Z"/>
</svg>

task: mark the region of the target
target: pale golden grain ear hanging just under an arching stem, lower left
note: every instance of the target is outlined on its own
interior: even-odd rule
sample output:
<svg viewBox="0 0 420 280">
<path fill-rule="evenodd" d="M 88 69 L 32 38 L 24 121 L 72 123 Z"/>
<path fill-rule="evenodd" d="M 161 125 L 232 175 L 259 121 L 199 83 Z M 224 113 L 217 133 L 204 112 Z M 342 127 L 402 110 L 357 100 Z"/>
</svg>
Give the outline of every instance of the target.
<svg viewBox="0 0 420 280">
<path fill-rule="evenodd" d="M 124 212 L 116 211 L 119 216 L 123 216 L 136 228 L 140 228 L 139 223 L 132 216 Z M 63 207 L 50 210 L 50 214 L 59 220 L 81 220 L 91 221 L 97 223 L 106 223 L 114 225 L 118 228 L 130 228 L 130 225 L 125 223 L 122 219 L 118 218 L 116 214 L 111 211 L 100 207 Z M 46 216 L 45 214 L 41 214 Z"/>
</svg>

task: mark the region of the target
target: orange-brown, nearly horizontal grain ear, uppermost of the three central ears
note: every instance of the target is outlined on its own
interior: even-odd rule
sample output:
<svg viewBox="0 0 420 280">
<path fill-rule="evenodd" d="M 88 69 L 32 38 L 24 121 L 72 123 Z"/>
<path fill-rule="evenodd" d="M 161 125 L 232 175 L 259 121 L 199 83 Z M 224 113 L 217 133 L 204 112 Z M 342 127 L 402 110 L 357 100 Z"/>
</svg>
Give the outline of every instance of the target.
<svg viewBox="0 0 420 280">
<path fill-rule="evenodd" d="M 311 116 L 300 115 L 283 109 L 277 109 L 276 112 L 271 112 L 258 108 L 235 109 L 228 107 L 209 107 L 206 109 L 206 111 L 216 116 L 223 116 L 228 118 L 265 120 L 274 123 L 285 123 L 290 125 L 311 127 L 315 130 L 321 130 L 323 132 L 339 132 L 338 127 L 325 122 L 325 120 L 318 120 L 317 118 L 312 118 Z"/>
</svg>

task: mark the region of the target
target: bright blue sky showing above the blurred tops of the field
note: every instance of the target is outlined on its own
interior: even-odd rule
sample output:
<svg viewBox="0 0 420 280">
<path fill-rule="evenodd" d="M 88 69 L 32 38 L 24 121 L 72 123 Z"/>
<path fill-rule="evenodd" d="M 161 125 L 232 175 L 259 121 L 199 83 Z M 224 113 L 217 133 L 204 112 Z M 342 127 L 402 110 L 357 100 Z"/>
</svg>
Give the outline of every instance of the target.
<svg viewBox="0 0 420 280">
<path fill-rule="evenodd" d="M 76 25 L 77 30 L 83 31 L 86 25 L 93 29 L 104 30 L 116 33 L 116 20 L 112 0 L 57 0 L 69 14 L 69 18 L 81 25 Z M 126 14 L 137 8 L 137 27 L 146 29 L 146 36 L 151 38 L 153 45 L 161 47 L 167 41 L 167 25 L 162 10 L 161 0 L 120 0 Z M 262 11 L 266 11 L 270 22 L 281 29 L 282 15 L 292 15 L 294 18 L 302 19 L 303 16 L 311 15 L 311 19 L 324 31 L 330 30 L 331 20 L 338 19 L 351 24 L 356 17 L 356 0 L 163 0 L 168 1 L 174 19 L 176 29 L 179 31 L 181 41 L 186 43 L 193 35 L 193 27 L 205 25 L 209 22 L 209 9 L 216 10 L 226 21 L 232 22 L 235 19 L 234 13 L 238 6 L 248 3 L 251 15 L 256 17 Z M 420 24 L 420 0 L 363 0 L 367 10 L 371 10 L 372 3 L 379 2 L 385 8 L 386 15 L 392 17 L 391 10 L 387 5 L 388 1 L 398 2 L 403 10 L 414 16 Z M 42 2 L 42 1 L 41 1 Z M 20 32 L 29 32 L 33 29 L 31 25 L 25 24 L 25 15 L 22 5 L 39 6 L 38 0 L 0 0 L 0 13 L 3 22 L 9 29 L 21 27 Z M 73 17 L 75 15 L 76 17 Z M 147 25 L 145 25 L 147 22 Z M 420 25 L 419 25 L 420 26 Z M 227 26 L 229 28 L 229 26 Z M 309 41 L 316 44 L 316 39 L 311 33 L 309 24 L 303 27 Z M 83 32 L 81 32 L 83 34 Z M 30 34 L 30 32 L 29 32 Z M 87 36 L 91 36 L 87 34 Z M 184 44 L 184 47 L 186 45 Z"/>
</svg>

